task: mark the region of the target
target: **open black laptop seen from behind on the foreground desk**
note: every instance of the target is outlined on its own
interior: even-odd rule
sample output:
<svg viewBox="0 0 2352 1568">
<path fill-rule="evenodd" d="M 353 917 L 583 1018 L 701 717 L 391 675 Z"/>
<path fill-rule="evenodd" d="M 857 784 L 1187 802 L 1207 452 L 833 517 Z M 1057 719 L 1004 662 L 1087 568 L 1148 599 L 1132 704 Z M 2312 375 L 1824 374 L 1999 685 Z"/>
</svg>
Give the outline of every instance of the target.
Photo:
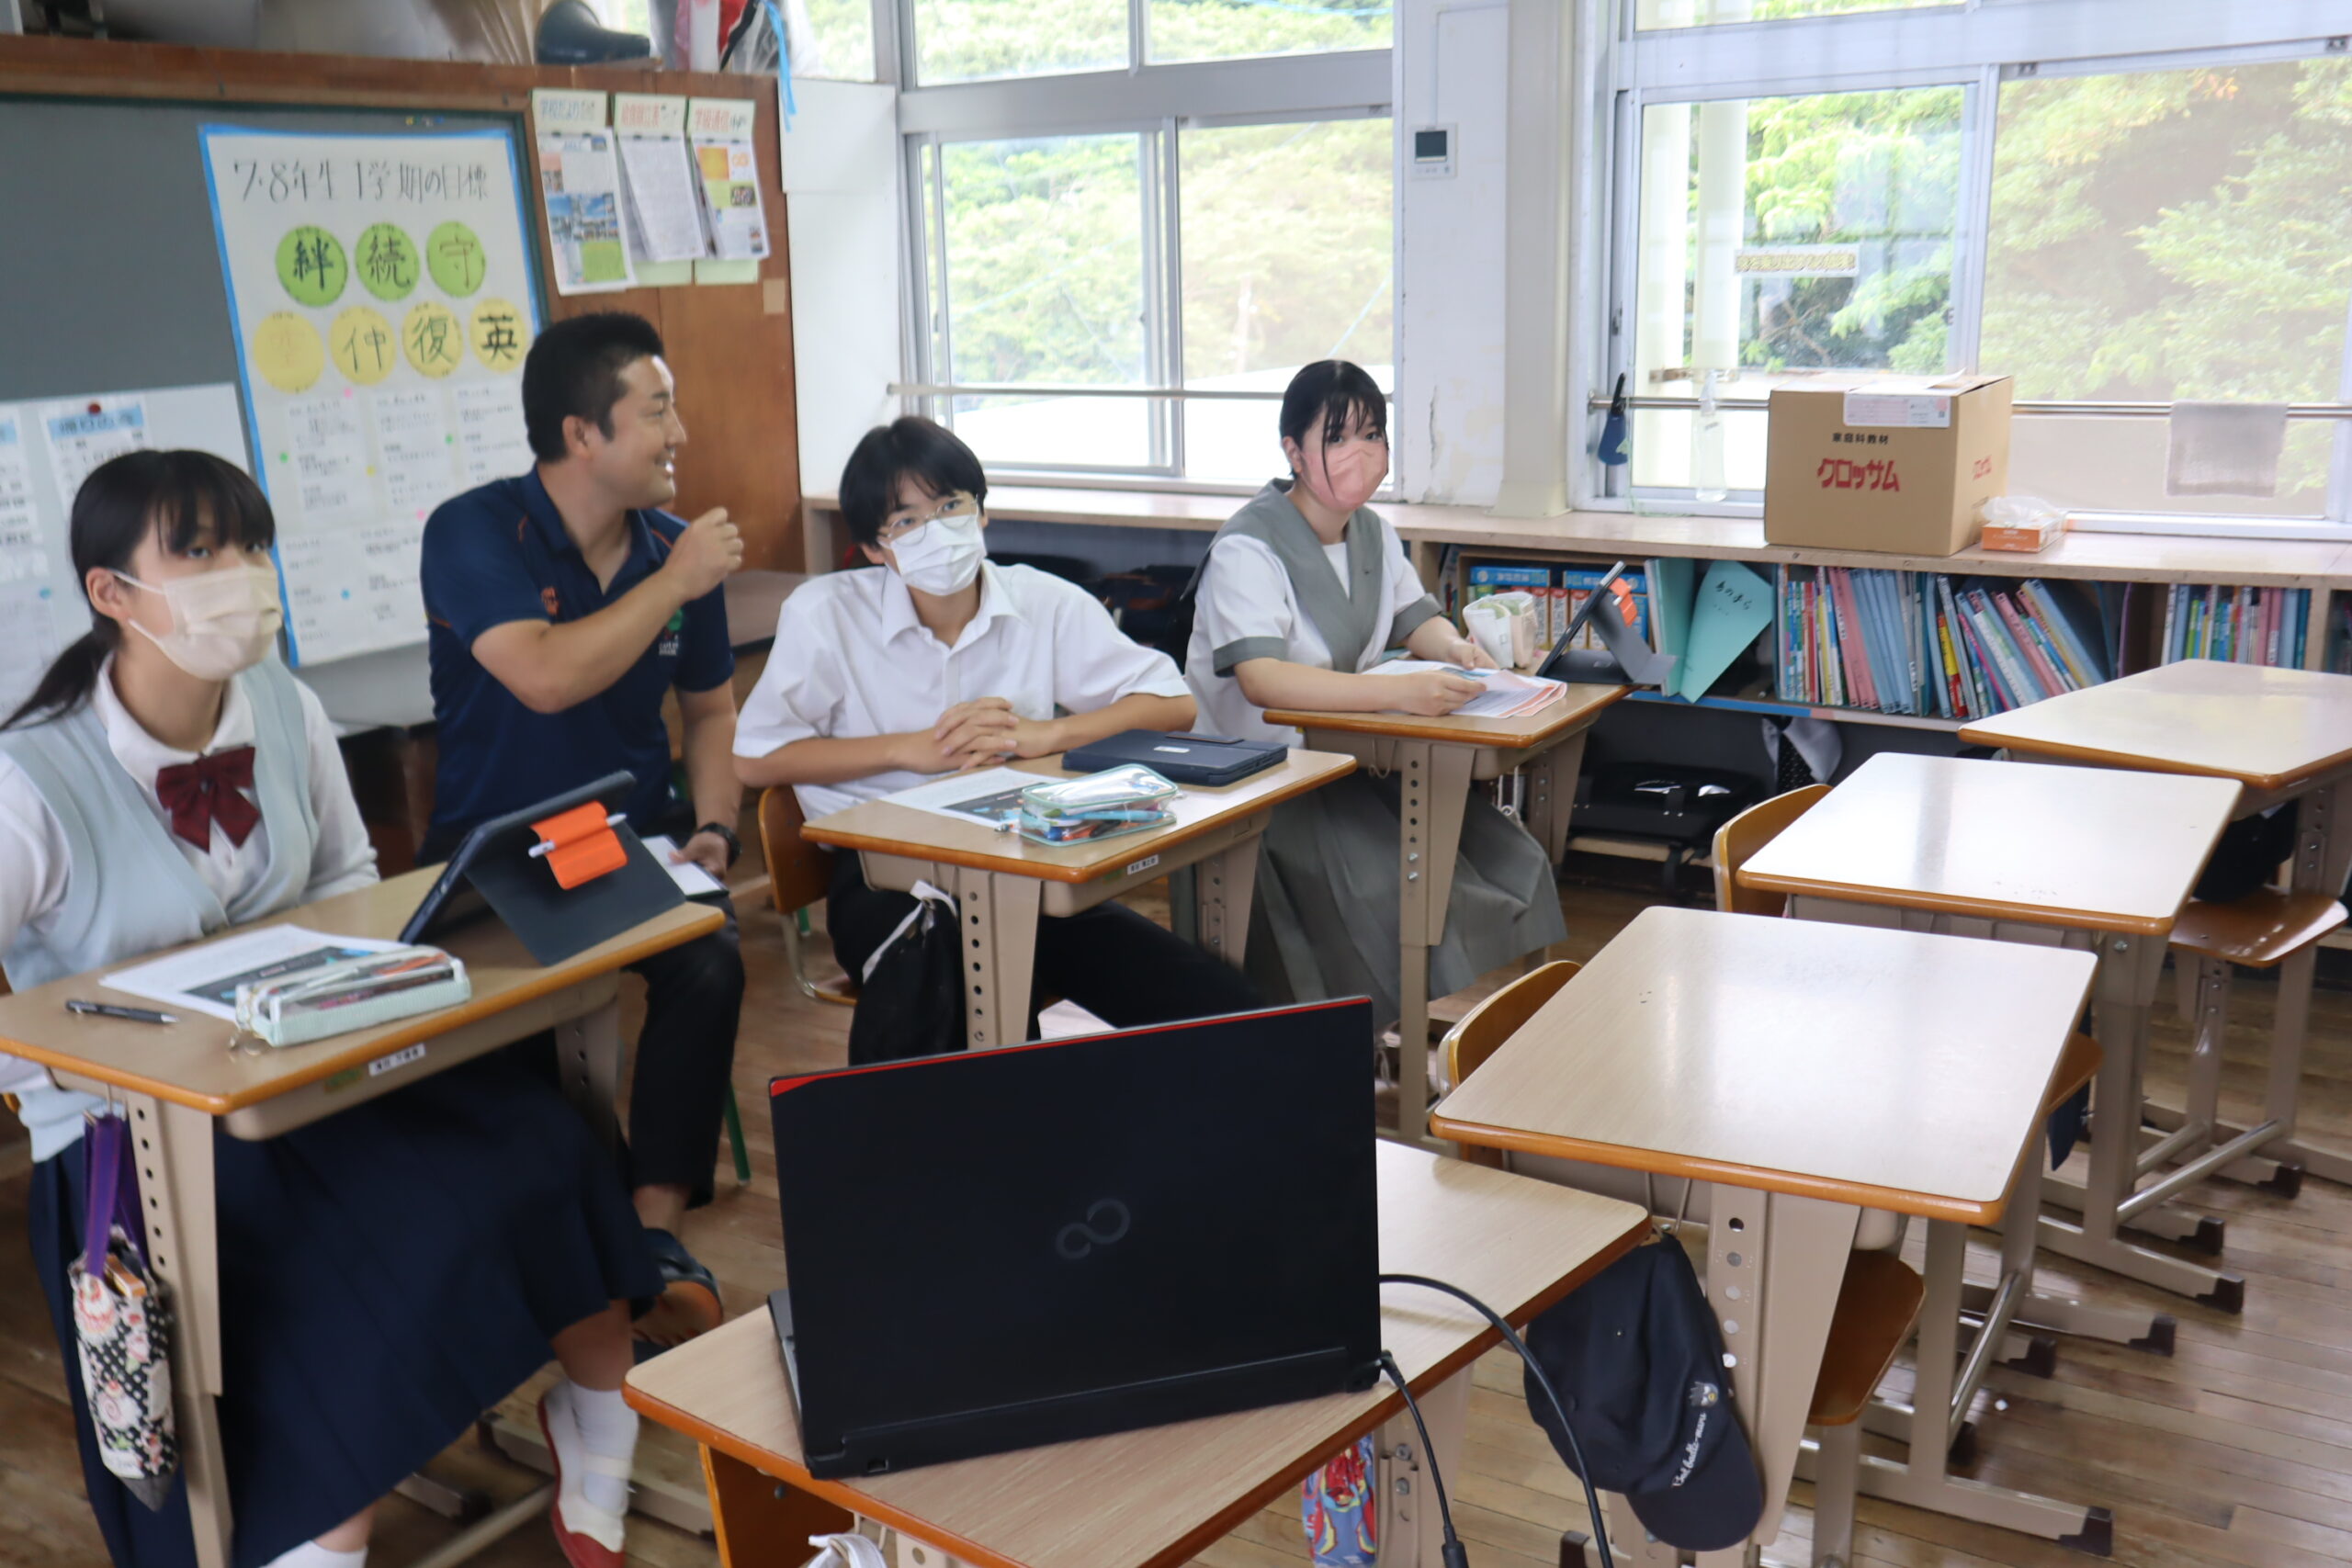
<svg viewBox="0 0 2352 1568">
<path fill-rule="evenodd" d="M 1371 1387 L 1371 1004 L 769 1084 L 811 1476 Z"/>
</svg>

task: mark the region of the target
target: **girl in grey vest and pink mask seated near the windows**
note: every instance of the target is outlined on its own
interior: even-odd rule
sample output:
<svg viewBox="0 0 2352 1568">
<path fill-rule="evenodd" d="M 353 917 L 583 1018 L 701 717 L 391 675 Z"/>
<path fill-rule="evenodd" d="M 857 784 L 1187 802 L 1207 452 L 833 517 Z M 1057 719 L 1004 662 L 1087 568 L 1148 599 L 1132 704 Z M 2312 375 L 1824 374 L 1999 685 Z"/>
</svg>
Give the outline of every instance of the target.
<svg viewBox="0 0 2352 1568">
<path fill-rule="evenodd" d="M 1282 395 L 1272 480 L 1216 531 L 1197 578 L 1185 679 L 1202 729 L 1298 745 L 1268 708 L 1454 712 L 1479 684 L 1428 670 L 1364 675 L 1388 649 L 1494 665 L 1458 635 L 1367 503 L 1388 477 L 1388 400 L 1362 367 L 1319 360 Z M 1470 985 L 1566 936 L 1559 889 L 1534 837 L 1482 795 L 1463 813 L 1430 994 Z M 1397 780 L 1352 773 L 1275 806 L 1258 856 L 1249 978 L 1270 1001 L 1397 1001 Z"/>
</svg>

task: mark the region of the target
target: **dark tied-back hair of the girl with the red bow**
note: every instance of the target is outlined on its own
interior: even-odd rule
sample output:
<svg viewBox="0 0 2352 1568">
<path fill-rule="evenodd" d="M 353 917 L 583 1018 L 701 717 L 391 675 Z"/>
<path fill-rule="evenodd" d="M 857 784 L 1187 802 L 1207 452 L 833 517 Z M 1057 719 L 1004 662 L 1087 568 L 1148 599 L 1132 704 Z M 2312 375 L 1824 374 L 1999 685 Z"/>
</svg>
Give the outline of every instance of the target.
<svg viewBox="0 0 2352 1568">
<path fill-rule="evenodd" d="M 209 451 L 125 451 L 99 463 L 73 496 L 73 576 L 89 588 L 89 571 L 129 571 L 139 543 L 153 534 L 174 555 L 207 534 L 214 545 L 266 550 L 278 520 L 261 487 L 242 468 Z M 49 665 L 33 696 L 0 729 L 26 719 L 61 719 L 89 701 L 106 656 L 122 646 L 122 623 L 89 611 L 89 630 Z"/>
</svg>

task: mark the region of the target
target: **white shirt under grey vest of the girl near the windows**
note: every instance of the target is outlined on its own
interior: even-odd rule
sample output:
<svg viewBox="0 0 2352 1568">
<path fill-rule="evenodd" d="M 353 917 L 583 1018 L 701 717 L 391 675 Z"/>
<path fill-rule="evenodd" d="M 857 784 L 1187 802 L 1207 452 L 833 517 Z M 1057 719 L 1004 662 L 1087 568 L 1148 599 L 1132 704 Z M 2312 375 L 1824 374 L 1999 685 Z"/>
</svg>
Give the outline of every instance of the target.
<svg viewBox="0 0 2352 1568">
<path fill-rule="evenodd" d="M 1350 527 L 1355 524 L 1350 522 Z M 1341 592 L 1348 592 L 1348 541 L 1324 545 L 1324 557 L 1338 574 Z M 1388 628 L 1430 592 L 1421 585 L 1414 564 L 1404 559 L 1404 545 L 1397 543 L 1397 529 L 1390 527 L 1388 517 L 1381 517 L 1381 625 L 1364 642 L 1364 656 L 1355 672 L 1381 663 L 1381 654 L 1388 651 Z M 1249 701 L 1242 682 L 1216 672 L 1216 649 L 1244 637 L 1279 637 L 1289 644 L 1284 654 L 1289 663 L 1331 668 L 1331 649 L 1315 623 L 1298 611 L 1298 595 L 1291 592 L 1291 574 L 1282 559 L 1247 534 L 1228 534 L 1209 548 L 1192 609 L 1192 644 L 1185 649 L 1185 679 L 1200 703 L 1200 719 L 1192 729 L 1209 736 L 1301 745 L 1296 729 L 1265 722 L 1265 710 Z"/>
</svg>

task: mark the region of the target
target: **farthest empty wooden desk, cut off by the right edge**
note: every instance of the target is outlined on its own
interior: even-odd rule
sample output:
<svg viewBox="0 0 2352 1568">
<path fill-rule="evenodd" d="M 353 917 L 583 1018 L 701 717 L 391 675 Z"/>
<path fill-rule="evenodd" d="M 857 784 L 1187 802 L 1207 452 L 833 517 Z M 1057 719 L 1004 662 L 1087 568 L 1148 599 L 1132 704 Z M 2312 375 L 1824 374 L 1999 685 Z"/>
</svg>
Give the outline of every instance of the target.
<svg viewBox="0 0 2352 1568">
<path fill-rule="evenodd" d="M 2352 832 L 2338 832 L 2338 818 L 2352 809 L 2352 792 L 2345 790 L 2352 780 L 2352 677 L 2183 658 L 1980 719 L 1959 738 L 2006 745 L 2034 759 L 2234 778 L 2244 788 L 2239 816 L 2296 802 L 2288 886 L 2343 898 L 2345 875 L 2352 872 Z M 2251 1157 L 2293 1161 L 2312 1175 L 2352 1182 L 2352 1154 L 2314 1150 L 2296 1138 L 2317 964 L 2317 947 L 2279 964 L 2260 1126 L 2216 1126 L 2213 1135 L 2246 1140 Z M 2150 1121 L 2169 1124 L 2169 1131 L 2178 1126 L 2154 1107 Z"/>
</svg>

